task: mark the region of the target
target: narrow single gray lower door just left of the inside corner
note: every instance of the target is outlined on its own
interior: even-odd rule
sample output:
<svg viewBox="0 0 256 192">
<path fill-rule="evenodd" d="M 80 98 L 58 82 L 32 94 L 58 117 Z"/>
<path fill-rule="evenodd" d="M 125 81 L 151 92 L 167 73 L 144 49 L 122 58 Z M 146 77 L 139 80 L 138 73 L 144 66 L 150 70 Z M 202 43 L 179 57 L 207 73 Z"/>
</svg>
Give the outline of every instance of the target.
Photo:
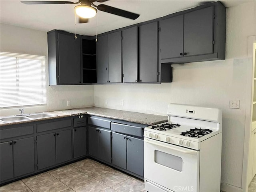
<svg viewBox="0 0 256 192">
<path fill-rule="evenodd" d="M 86 127 L 73 129 L 74 158 L 86 155 Z"/>
</svg>

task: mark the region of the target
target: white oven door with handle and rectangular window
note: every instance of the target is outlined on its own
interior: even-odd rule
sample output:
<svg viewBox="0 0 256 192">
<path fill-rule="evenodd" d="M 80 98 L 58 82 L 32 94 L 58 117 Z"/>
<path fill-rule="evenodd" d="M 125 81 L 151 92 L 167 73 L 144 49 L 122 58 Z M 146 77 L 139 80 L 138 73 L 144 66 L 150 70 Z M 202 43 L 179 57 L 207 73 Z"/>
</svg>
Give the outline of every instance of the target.
<svg viewBox="0 0 256 192">
<path fill-rule="evenodd" d="M 199 159 L 198 150 L 144 138 L 145 180 L 174 192 L 199 191 Z"/>
</svg>

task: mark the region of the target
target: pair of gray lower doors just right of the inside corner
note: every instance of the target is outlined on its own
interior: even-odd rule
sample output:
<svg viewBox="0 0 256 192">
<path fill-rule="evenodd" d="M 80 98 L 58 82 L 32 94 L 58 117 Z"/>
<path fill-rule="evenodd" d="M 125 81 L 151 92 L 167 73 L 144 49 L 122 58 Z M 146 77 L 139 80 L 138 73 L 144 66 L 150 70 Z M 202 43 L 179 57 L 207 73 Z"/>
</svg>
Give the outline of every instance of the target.
<svg viewBox="0 0 256 192">
<path fill-rule="evenodd" d="M 89 154 L 111 162 L 111 131 L 88 126 Z"/>
</svg>

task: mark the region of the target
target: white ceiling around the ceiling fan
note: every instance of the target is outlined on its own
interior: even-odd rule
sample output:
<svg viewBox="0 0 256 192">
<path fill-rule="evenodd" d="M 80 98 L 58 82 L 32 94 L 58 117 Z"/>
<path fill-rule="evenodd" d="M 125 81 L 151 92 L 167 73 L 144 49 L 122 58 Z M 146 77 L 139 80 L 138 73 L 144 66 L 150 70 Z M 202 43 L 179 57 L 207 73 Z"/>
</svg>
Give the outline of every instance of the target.
<svg viewBox="0 0 256 192">
<path fill-rule="evenodd" d="M 69 0 L 77 2 L 76 0 Z M 76 24 L 76 32 L 82 35 L 98 34 L 132 24 L 152 20 L 201 4 L 210 0 L 109 0 L 101 3 L 140 14 L 136 20 L 98 11 L 89 23 Z M 226 7 L 236 6 L 248 0 L 222 0 Z M 99 3 L 95 3 L 99 4 Z M 75 32 L 74 6 L 72 4 L 26 5 L 17 0 L 0 0 L 0 22 L 41 31 L 53 29 Z M 96 19 L 97 18 L 97 19 Z"/>
</svg>

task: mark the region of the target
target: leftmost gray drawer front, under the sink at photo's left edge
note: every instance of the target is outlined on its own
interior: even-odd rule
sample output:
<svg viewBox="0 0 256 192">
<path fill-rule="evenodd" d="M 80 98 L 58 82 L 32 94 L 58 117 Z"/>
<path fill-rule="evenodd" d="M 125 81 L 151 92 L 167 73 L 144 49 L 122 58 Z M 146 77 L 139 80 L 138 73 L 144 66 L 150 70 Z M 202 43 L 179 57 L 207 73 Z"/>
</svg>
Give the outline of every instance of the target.
<svg viewBox="0 0 256 192">
<path fill-rule="evenodd" d="M 10 128 L 10 129 L 3 129 L 0 131 L 0 138 L 6 139 L 11 137 L 17 137 L 17 136 L 23 136 L 23 135 L 29 135 L 34 133 L 34 126 L 21 126 L 16 128 Z"/>
</svg>

